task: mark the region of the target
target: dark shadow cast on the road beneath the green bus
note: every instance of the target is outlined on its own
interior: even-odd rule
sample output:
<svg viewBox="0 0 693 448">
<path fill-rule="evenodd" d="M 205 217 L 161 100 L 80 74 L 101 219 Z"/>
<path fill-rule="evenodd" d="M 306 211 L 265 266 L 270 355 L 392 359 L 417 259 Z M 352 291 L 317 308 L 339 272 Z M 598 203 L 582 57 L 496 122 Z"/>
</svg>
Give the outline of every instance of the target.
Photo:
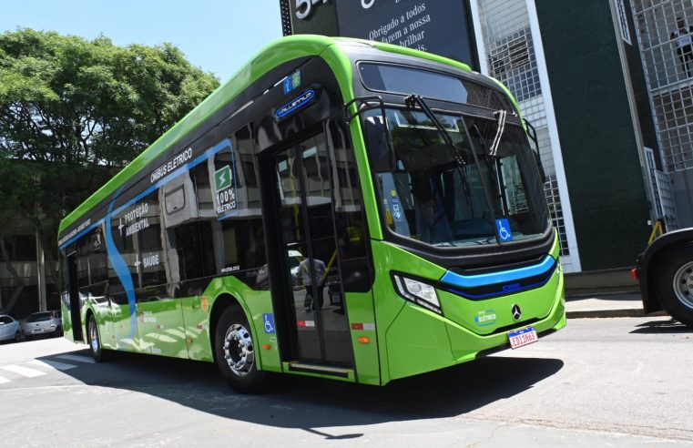
<svg viewBox="0 0 693 448">
<path fill-rule="evenodd" d="M 56 356 L 44 359 L 59 361 Z M 330 428 L 464 414 L 524 392 L 563 365 L 556 359 L 487 357 L 385 387 L 272 375 L 260 395 L 232 392 L 214 364 L 130 353 L 64 373 L 87 385 L 147 393 L 228 419 L 349 439 L 362 434 L 332 434 Z"/>
</svg>

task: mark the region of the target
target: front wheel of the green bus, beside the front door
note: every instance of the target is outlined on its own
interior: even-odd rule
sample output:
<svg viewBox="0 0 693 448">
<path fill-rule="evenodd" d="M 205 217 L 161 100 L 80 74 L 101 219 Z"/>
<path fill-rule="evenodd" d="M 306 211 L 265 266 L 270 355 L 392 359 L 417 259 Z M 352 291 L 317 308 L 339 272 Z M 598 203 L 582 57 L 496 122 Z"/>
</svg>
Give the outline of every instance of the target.
<svg viewBox="0 0 693 448">
<path fill-rule="evenodd" d="M 221 376 L 235 392 L 260 392 L 265 372 L 258 370 L 255 341 L 243 311 L 230 307 L 221 313 L 214 351 Z"/>
</svg>

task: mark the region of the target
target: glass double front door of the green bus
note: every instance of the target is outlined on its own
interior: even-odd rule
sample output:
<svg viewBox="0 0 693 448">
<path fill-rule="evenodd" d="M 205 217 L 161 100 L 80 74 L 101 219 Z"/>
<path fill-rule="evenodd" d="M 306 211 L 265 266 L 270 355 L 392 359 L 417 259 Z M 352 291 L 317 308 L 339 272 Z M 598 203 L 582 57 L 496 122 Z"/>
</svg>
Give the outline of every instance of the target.
<svg viewBox="0 0 693 448">
<path fill-rule="evenodd" d="M 269 165 L 271 221 L 279 235 L 280 256 L 280 275 L 275 275 L 280 286 L 274 292 L 286 311 L 291 356 L 295 361 L 352 366 L 324 133 L 275 153 Z"/>
</svg>

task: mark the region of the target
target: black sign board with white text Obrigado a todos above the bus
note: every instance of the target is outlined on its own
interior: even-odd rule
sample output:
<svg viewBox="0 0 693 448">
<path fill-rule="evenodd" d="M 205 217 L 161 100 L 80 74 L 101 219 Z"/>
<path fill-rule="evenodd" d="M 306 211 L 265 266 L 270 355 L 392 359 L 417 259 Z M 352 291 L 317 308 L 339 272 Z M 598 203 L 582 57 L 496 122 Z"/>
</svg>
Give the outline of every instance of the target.
<svg viewBox="0 0 693 448">
<path fill-rule="evenodd" d="M 281 0 L 281 3 L 285 34 L 377 40 L 447 56 L 478 68 L 468 0 Z"/>
</svg>

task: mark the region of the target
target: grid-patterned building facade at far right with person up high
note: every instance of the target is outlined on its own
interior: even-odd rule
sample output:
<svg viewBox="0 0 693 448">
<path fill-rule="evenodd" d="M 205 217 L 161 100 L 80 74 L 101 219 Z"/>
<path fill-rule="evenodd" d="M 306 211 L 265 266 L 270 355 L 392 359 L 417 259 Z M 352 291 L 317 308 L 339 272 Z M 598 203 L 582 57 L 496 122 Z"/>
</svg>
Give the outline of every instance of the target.
<svg viewBox="0 0 693 448">
<path fill-rule="evenodd" d="M 635 17 L 648 102 L 655 120 L 665 172 L 661 213 L 668 229 L 693 227 L 693 48 L 688 33 L 693 3 L 684 0 L 622 0 Z"/>
</svg>

